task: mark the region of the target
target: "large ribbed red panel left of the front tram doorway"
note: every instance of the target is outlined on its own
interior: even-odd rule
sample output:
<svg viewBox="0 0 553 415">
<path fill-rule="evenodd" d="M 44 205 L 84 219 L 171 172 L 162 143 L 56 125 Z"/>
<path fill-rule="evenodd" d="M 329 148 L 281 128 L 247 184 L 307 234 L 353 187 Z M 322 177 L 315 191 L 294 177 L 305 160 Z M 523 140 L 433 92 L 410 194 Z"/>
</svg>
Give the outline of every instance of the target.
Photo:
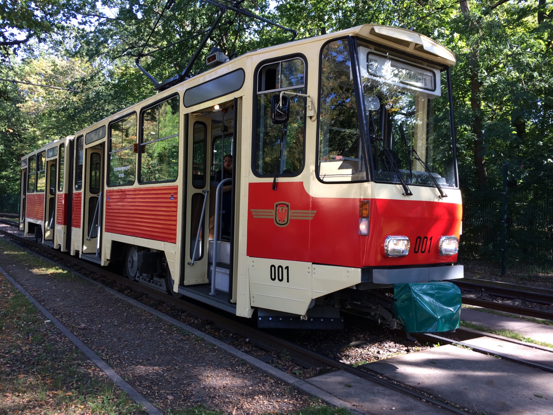
<svg viewBox="0 0 553 415">
<path fill-rule="evenodd" d="M 106 191 L 106 232 L 176 243 L 178 186 Z"/>
</svg>

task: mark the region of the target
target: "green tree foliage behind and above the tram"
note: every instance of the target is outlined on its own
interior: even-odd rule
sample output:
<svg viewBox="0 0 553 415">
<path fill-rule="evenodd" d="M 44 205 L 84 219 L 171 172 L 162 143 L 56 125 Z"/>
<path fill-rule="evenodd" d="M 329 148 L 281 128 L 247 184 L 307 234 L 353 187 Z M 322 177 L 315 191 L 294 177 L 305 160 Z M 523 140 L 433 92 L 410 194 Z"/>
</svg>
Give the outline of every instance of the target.
<svg viewBox="0 0 553 415">
<path fill-rule="evenodd" d="M 0 82 L 0 194 L 18 193 L 22 154 L 53 139 L 74 134 L 152 96 L 153 85 L 134 65 L 137 57 L 158 80 L 180 74 L 186 68 L 204 37 L 202 30 L 215 21 L 218 9 L 204 2 L 176 0 L 161 16 L 165 4 L 165 0 L 98 3 L 8 0 L 2 3 L 0 48 L 4 59 L 0 63 L 0 77 L 72 86 L 81 92 Z M 510 207 L 513 220 L 521 218 L 517 219 L 519 223 L 523 220 L 538 223 L 538 214 L 524 206 L 546 204 L 547 189 L 553 184 L 547 178 L 553 167 L 553 65 L 550 64 L 553 3 L 542 0 L 493 5 L 482 0 L 460 3 L 247 0 L 241 6 L 298 30 L 298 38 L 364 23 L 408 28 L 413 25 L 417 32 L 450 48 L 457 58 L 452 68 L 453 98 L 458 166 L 465 199 L 485 200 L 489 192 L 500 191 L 502 164 L 507 162 L 510 185 L 521 189 L 521 199 Z M 158 20 L 159 24 L 152 30 Z M 290 33 L 285 30 L 252 18 L 237 17 L 233 12 L 227 12 L 220 23 L 192 65 L 192 74 L 205 69 L 205 55 L 213 46 L 227 54 L 243 54 L 290 39 Z M 247 30 L 240 32 L 239 29 Z M 154 51 L 174 42 L 179 43 Z M 168 128 L 172 127 L 170 124 Z M 325 126 L 323 122 L 321 126 Z M 286 157 L 286 170 L 298 169 L 303 128 L 300 123 L 289 125 L 287 144 L 290 145 L 286 152 L 290 154 Z M 161 130 L 158 133 L 159 137 L 165 134 Z M 355 136 L 346 139 L 353 142 Z M 279 129 L 268 134 L 267 139 L 269 147 L 264 147 L 267 153 L 263 155 L 263 164 L 272 172 L 271 166 L 280 148 Z M 155 146 L 151 152 L 168 152 L 170 148 L 168 141 Z M 340 148 L 336 147 L 336 151 Z M 329 152 L 328 156 L 333 154 Z M 174 159 L 168 155 L 162 166 L 152 166 L 158 170 L 156 177 L 174 177 Z M 197 160 L 201 161 L 200 154 Z M 544 183 L 544 186 L 538 189 L 535 183 Z M 478 215 L 481 211 L 482 205 L 471 205 L 465 216 Z M 497 211 L 489 215 L 484 219 L 497 224 Z M 486 257 L 497 261 L 498 245 L 489 243 L 494 238 L 497 240 L 497 226 L 482 229 L 478 224 L 472 228 L 467 221 L 465 224 L 467 244 L 461 252 L 464 249 L 467 258 Z M 542 254 L 532 256 L 533 252 L 528 250 L 531 234 L 541 232 L 544 238 L 551 238 L 553 227 L 516 229 L 509 243 L 515 250 L 513 256 L 539 261 Z"/>
</svg>

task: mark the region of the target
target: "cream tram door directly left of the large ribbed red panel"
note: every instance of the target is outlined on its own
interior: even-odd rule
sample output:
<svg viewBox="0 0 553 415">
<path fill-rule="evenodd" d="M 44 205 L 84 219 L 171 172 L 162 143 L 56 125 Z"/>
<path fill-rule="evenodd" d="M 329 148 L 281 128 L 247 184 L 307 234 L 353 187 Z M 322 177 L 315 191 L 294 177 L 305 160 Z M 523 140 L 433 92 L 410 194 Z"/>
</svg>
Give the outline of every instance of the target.
<svg viewBox="0 0 553 415">
<path fill-rule="evenodd" d="M 101 258 L 101 230 L 103 219 L 103 143 L 86 149 L 83 203 L 82 253 Z"/>
</svg>

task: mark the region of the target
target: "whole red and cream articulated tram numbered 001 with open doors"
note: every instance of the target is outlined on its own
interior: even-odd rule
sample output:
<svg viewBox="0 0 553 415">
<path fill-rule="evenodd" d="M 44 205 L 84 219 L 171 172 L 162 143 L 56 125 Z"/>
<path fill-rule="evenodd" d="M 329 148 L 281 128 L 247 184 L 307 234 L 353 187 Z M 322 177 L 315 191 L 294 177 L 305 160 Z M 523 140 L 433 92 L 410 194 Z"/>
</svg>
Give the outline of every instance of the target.
<svg viewBox="0 0 553 415">
<path fill-rule="evenodd" d="M 458 326 L 450 67 L 362 25 L 228 59 L 22 159 L 20 232 L 262 327 Z"/>
</svg>

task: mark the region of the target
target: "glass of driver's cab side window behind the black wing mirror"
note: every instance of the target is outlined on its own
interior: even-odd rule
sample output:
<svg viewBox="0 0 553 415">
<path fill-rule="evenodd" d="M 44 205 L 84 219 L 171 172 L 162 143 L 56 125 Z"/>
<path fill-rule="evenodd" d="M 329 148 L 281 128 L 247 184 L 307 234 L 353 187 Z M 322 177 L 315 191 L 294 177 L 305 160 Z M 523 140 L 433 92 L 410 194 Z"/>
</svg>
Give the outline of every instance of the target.
<svg viewBox="0 0 553 415">
<path fill-rule="evenodd" d="M 305 94 L 305 64 L 300 58 L 263 65 L 258 72 L 254 169 L 259 175 L 295 175 L 304 164 L 306 98 L 290 98 L 286 139 L 280 145 L 282 126 L 271 121 L 271 98 L 282 91 Z M 282 148 L 282 152 L 281 152 Z M 280 165 L 278 164 L 279 153 Z"/>
</svg>

